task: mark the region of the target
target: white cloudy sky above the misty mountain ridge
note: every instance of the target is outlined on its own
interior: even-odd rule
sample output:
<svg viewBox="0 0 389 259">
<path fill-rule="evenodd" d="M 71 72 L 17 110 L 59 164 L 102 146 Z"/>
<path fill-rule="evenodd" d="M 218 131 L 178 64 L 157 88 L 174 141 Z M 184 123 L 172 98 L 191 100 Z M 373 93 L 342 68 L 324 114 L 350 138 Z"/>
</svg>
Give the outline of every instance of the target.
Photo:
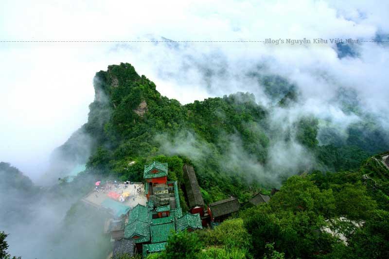
<svg viewBox="0 0 389 259">
<path fill-rule="evenodd" d="M 1 1 L 0 40 L 235 41 L 265 38 L 354 38 L 389 34 L 387 1 Z M 296 83 L 315 114 L 346 120 L 328 100 L 338 86 L 354 88 L 361 103 L 388 109 L 388 45 L 353 47 L 355 58 L 337 57 L 334 44 L 0 42 L 0 161 L 33 179 L 44 171 L 53 148 L 87 121 L 94 73 L 131 63 L 157 89 L 181 103 L 251 91 L 240 76 L 265 65 Z M 227 75 L 204 80 L 202 67 Z M 183 69 L 185 68 L 185 69 Z"/>
</svg>

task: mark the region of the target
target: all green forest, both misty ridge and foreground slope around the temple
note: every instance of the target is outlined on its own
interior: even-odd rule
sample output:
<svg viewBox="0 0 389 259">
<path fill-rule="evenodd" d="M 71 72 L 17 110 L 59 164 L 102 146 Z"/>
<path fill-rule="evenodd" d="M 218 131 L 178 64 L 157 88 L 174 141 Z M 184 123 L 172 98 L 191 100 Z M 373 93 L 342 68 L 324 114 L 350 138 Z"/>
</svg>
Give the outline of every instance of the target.
<svg viewBox="0 0 389 259">
<path fill-rule="evenodd" d="M 172 235 L 166 251 L 149 258 L 389 258 L 389 171 L 379 161 L 389 138 L 378 118 L 339 89 L 334 102 L 360 118 L 345 130 L 308 113 L 275 121 L 303 102 L 298 88 L 278 76 L 252 76 L 265 86 L 270 106 L 242 92 L 182 105 L 127 63 L 96 73 L 88 122 L 56 150 L 65 160 L 86 160 L 87 170 L 71 183 L 60 179 L 53 193 L 82 195 L 85 182 L 96 179 L 141 181 L 152 160 L 167 162 L 168 177 L 181 185 L 189 163 L 206 204 L 232 195 L 244 205 L 214 230 Z M 12 184 L 39 192 L 20 175 Z M 280 191 L 269 203 L 246 203 L 271 188 Z M 67 228 L 80 211 L 92 217 L 76 202 Z"/>
</svg>

